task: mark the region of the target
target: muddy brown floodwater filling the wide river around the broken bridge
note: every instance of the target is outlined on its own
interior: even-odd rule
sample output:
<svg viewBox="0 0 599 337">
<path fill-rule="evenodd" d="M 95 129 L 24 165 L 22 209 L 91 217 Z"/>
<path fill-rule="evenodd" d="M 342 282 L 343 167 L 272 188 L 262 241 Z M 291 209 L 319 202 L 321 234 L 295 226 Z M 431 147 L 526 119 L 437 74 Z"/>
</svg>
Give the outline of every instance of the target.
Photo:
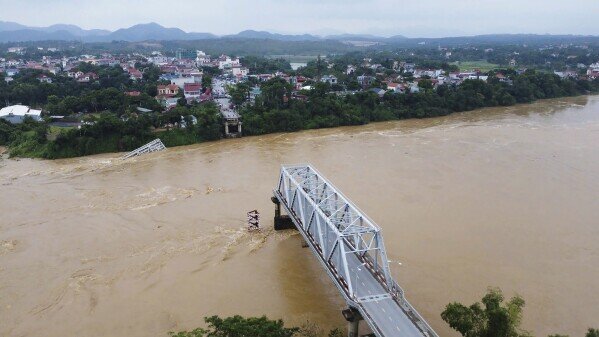
<svg viewBox="0 0 599 337">
<path fill-rule="evenodd" d="M 309 162 L 382 228 L 442 336 L 451 301 L 526 300 L 536 336 L 599 327 L 599 97 L 120 154 L 0 160 L 0 335 L 166 336 L 202 317 L 343 326 L 279 165 Z M 243 230 L 258 209 L 262 233 Z"/>
</svg>

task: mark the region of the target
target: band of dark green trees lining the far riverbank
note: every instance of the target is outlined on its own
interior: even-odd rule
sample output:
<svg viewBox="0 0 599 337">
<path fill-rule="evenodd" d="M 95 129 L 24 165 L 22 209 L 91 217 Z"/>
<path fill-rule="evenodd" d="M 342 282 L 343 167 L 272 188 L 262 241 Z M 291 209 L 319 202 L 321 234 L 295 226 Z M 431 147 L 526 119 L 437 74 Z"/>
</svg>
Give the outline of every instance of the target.
<svg viewBox="0 0 599 337">
<path fill-rule="evenodd" d="M 0 92 L 20 97 L 23 102 L 45 103 L 50 111 L 66 116 L 75 111 L 90 112 L 83 117 L 86 123 L 80 128 L 61 132 L 56 132 L 56 128 L 51 128 L 47 122 L 26 121 L 12 125 L 0 120 L 0 145 L 7 146 L 11 156 L 55 159 L 128 151 L 154 138 L 161 138 L 167 147 L 171 147 L 222 137 L 222 121 L 213 103 L 187 105 L 181 99 L 176 108 L 165 113 L 138 113 L 136 107 L 159 109 L 152 98 L 156 93 L 157 69 L 152 65 L 140 64 L 138 67 L 145 69 L 144 78 L 132 84 L 120 68 L 82 64 L 82 70 L 99 74 L 99 81 L 85 89 L 67 79 L 52 84 L 39 83 L 35 72 L 25 72 L 7 93 L 9 88 L 0 78 Z M 459 86 L 433 88 L 432 81 L 425 79 L 418 82 L 420 92 L 387 92 L 383 96 L 371 90 L 344 93 L 317 82 L 313 90 L 301 91 L 302 97 L 298 99 L 293 95 L 291 85 L 281 78 L 262 83 L 262 93 L 253 102 L 248 99 L 250 85 L 247 83 L 231 87 L 230 93 L 232 102 L 239 107 L 244 134 L 262 135 L 438 117 L 482 107 L 599 92 L 599 79 L 560 78 L 533 69 L 523 73 L 513 69 L 500 71 L 509 82 L 501 81 L 494 76 L 495 71 L 490 71 L 486 82 L 471 79 Z M 117 87 L 139 90 L 141 94 L 130 97 Z M 72 95 L 55 95 L 65 91 Z M 197 124 L 192 123 L 193 118 L 197 119 Z"/>
</svg>

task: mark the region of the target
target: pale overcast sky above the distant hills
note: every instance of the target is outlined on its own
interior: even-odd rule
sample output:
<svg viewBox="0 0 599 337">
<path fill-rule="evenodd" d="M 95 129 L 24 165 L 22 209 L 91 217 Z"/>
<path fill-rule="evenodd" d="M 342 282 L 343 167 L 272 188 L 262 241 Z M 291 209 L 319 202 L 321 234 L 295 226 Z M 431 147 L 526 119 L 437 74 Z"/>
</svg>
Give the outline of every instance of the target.
<svg viewBox="0 0 599 337">
<path fill-rule="evenodd" d="M 599 0 L 0 0 L 0 21 L 109 30 L 157 22 L 215 34 L 599 35 Z"/>
</svg>

